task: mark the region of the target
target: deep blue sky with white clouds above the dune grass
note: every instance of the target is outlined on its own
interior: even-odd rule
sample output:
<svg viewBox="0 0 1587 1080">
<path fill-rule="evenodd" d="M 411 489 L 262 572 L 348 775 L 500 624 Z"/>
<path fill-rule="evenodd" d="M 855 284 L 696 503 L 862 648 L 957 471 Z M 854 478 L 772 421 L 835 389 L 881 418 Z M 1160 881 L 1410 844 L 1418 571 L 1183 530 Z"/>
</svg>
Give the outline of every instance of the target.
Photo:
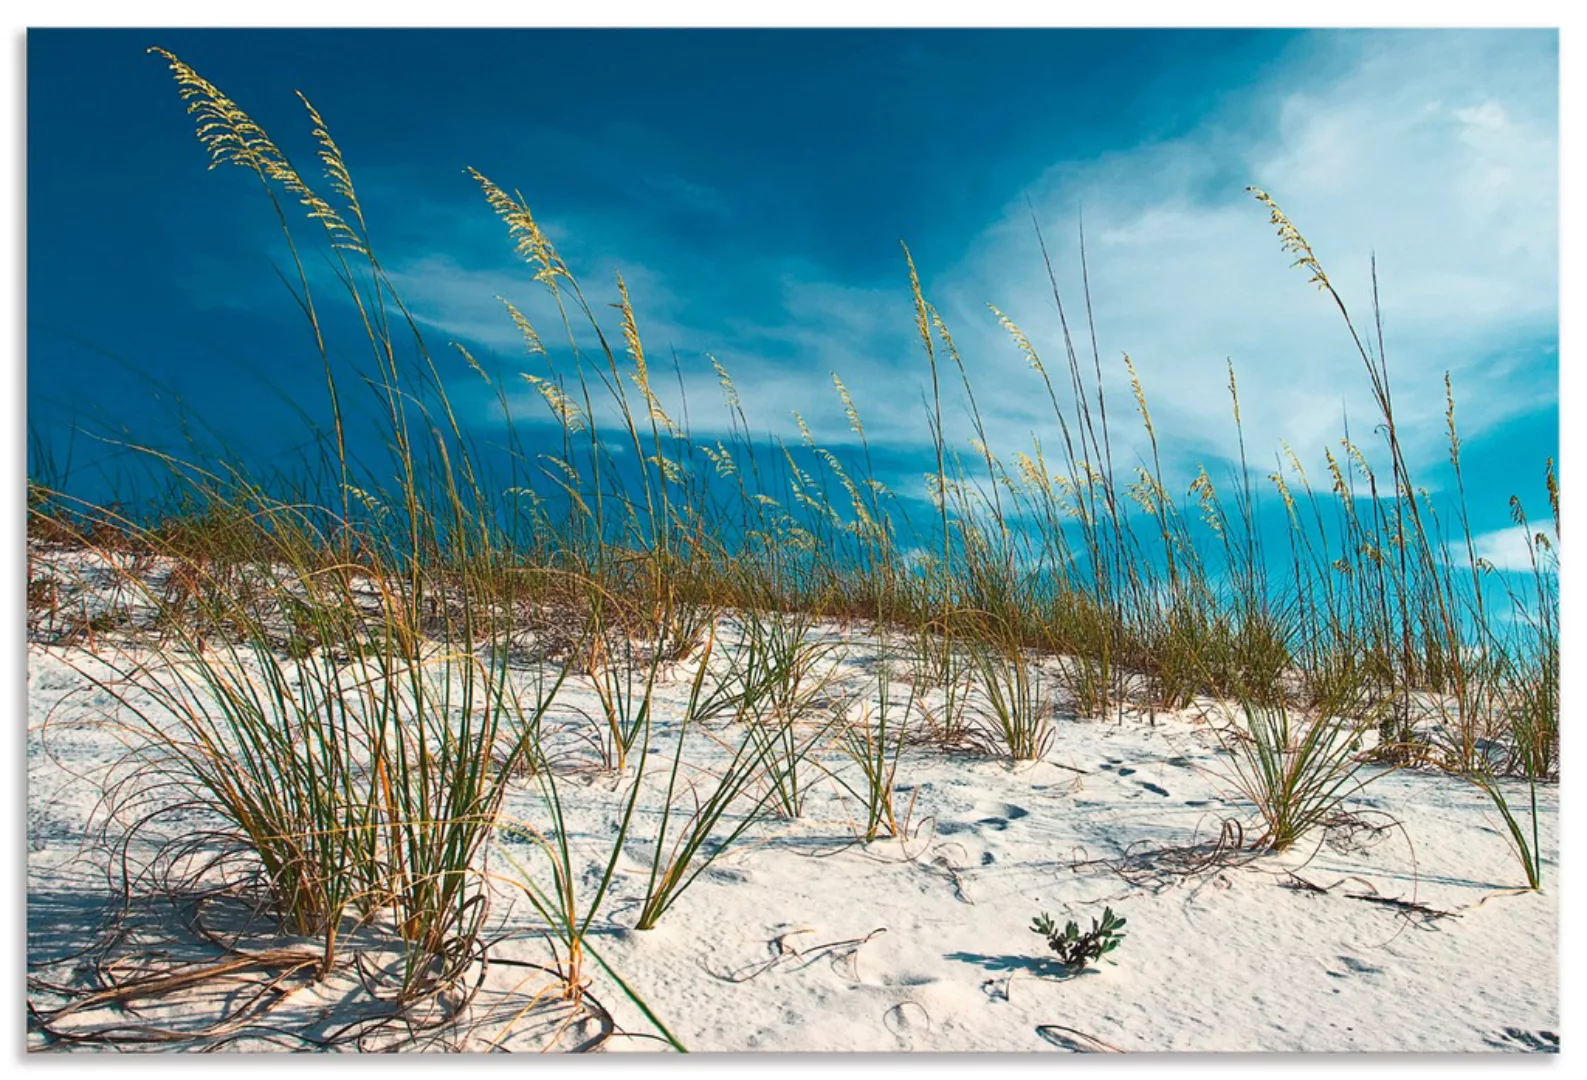
<svg viewBox="0 0 1587 1080">
<path fill-rule="evenodd" d="M 313 341 L 278 278 L 279 225 L 241 170 L 206 173 L 151 44 L 300 162 L 313 143 L 292 90 L 308 95 L 436 352 L 463 343 L 511 379 L 543 360 L 497 297 L 554 324 L 473 167 L 522 192 L 592 300 L 616 300 L 624 276 L 652 355 L 679 357 L 697 435 L 727 423 L 706 354 L 757 431 L 797 438 L 797 409 L 835 446 L 854 439 L 838 373 L 882 479 L 905 492 L 932 450 L 900 241 L 993 449 L 1011 454 L 1057 438 L 989 309 L 1063 370 L 1036 227 L 1087 360 L 1089 285 L 1122 460 L 1149 452 L 1124 354 L 1184 485 L 1238 454 L 1228 363 L 1260 471 L 1282 439 L 1317 479 L 1346 425 L 1370 449 L 1362 362 L 1289 266 L 1255 184 L 1363 327 L 1376 259 L 1401 438 L 1431 488 L 1452 484 L 1449 373 L 1484 553 L 1524 550 L 1511 493 L 1544 515 L 1543 461 L 1558 454 L 1554 32 L 33 30 L 29 422 L 76 468 L 117 458 L 83 433 L 175 438 L 173 395 L 260 460 L 290 460 L 294 409 L 322 409 Z M 501 417 L 478 376 L 449 377 L 462 420 L 489 438 Z M 514 416 L 544 422 L 513 385 Z M 946 425 L 965 449 L 957 404 Z"/>
</svg>

